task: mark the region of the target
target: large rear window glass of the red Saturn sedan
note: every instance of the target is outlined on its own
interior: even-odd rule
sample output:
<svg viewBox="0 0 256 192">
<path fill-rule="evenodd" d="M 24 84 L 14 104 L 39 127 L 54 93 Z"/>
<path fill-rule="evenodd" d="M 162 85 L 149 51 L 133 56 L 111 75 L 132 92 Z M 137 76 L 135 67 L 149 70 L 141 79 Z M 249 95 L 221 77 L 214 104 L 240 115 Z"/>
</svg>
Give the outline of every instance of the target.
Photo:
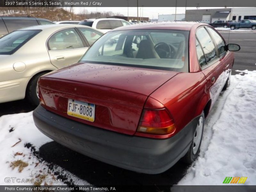
<svg viewBox="0 0 256 192">
<path fill-rule="evenodd" d="M 81 62 L 188 72 L 188 36 L 181 30 L 108 32 Z"/>
</svg>

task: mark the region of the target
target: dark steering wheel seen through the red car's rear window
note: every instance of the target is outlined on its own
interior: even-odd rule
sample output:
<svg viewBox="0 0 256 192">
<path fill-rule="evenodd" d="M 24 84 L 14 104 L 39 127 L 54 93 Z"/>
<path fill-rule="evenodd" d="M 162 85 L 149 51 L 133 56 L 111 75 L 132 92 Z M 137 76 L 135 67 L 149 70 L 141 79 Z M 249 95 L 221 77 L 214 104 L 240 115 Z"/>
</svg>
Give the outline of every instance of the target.
<svg viewBox="0 0 256 192">
<path fill-rule="evenodd" d="M 167 44 L 164 42 L 157 43 L 154 46 L 154 49 L 156 50 L 156 52 L 160 58 L 170 59 L 176 53 L 176 51 L 175 51 L 176 49 L 175 49 L 175 47 L 173 47 L 173 45 Z"/>
</svg>

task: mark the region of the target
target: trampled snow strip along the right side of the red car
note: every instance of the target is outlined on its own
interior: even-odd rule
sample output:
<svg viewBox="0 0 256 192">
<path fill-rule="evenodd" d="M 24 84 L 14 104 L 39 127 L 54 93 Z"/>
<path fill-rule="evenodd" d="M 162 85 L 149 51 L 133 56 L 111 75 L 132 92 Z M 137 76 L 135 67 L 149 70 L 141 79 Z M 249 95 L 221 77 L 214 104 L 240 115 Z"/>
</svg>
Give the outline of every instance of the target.
<svg viewBox="0 0 256 192">
<path fill-rule="evenodd" d="M 206 119 L 200 156 L 178 185 L 222 185 L 226 177 L 256 185 L 256 71 L 239 72 L 245 75 L 231 76 Z"/>
</svg>

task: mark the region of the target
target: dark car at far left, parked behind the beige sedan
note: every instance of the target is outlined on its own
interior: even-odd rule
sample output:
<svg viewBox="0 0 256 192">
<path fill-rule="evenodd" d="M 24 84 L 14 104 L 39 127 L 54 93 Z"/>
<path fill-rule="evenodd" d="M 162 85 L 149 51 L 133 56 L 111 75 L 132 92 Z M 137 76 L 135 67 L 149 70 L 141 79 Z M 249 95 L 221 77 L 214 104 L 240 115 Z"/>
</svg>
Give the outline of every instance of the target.
<svg viewBox="0 0 256 192">
<path fill-rule="evenodd" d="M 35 17 L 0 17 L 0 38 L 12 31 L 33 25 L 54 24 L 52 21 Z"/>
</svg>

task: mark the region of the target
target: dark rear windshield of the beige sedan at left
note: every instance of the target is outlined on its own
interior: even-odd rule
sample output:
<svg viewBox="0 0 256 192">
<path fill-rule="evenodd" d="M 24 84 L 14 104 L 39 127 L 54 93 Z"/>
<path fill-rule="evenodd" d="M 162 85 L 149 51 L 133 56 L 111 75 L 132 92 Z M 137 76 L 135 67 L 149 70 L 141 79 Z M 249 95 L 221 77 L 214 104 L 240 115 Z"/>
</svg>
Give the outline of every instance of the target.
<svg viewBox="0 0 256 192">
<path fill-rule="evenodd" d="M 13 31 L 0 39 L 0 55 L 11 55 L 41 30 Z"/>
</svg>

